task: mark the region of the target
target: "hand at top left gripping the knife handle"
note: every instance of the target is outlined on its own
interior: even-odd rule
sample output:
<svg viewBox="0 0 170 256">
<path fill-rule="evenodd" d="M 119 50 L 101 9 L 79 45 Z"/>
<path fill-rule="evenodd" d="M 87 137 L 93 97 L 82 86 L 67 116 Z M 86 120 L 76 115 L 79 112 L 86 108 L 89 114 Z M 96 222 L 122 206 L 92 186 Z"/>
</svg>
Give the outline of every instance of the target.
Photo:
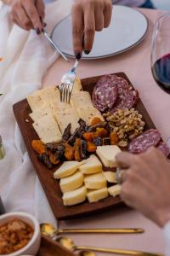
<svg viewBox="0 0 170 256">
<path fill-rule="evenodd" d="M 13 0 L 11 18 L 18 26 L 29 31 L 36 29 L 37 34 L 42 32 L 44 18 L 43 0 Z"/>
</svg>

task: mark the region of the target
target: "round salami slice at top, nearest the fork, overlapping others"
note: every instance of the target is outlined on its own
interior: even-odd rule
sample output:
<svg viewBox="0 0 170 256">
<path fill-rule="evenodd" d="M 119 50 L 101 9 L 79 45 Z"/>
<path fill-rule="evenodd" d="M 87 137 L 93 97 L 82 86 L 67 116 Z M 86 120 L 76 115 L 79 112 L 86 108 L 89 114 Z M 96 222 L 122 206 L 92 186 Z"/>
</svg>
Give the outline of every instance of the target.
<svg viewBox="0 0 170 256">
<path fill-rule="evenodd" d="M 94 87 L 92 95 L 94 107 L 101 112 L 111 109 L 116 102 L 117 94 L 118 90 L 111 75 L 102 77 Z"/>
</svg>

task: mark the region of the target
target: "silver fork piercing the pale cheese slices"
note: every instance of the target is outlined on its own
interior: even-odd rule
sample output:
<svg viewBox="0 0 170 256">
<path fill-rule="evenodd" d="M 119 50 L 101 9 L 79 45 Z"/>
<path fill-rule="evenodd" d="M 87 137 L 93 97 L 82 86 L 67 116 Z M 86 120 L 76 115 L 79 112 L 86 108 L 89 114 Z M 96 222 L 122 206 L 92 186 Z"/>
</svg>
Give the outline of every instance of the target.
<svg viewBox="0 0 170 256">
<path fill-rule="evenodd" d="M 59 85 L 60 102 L 70 103 L 71 101 L 71 92 L 73 90 L 74 82 L 76 79 L 76 69 L 80 60 L 81 59 L 76 59 L 74 66 L 71 68 L 71 71 L 65 73 L 61 79 L 61 84 Z"/>
</svg>

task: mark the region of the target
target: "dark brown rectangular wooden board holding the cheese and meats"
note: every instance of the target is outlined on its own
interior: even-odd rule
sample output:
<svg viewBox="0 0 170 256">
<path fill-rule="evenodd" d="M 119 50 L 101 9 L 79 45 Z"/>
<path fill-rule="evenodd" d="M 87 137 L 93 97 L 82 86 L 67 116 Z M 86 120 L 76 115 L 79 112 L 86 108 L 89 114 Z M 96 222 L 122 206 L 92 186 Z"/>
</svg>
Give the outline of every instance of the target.
<svg viewBox="0 0 170 256">
<path fill-rule="evenodd" d="M 116 75 L 122 77 L 123 79 L 126 79 L 127 82 L 131 84 L 129 79 L 127 79 L 125 73 L 116 73 Z M 90 94 L 92 94 L 94 85 L 100 77 L 101 76 L 89 79 L 82 79 L 83 90 L 88 90 Z M 31 162 L 37 172 L 37 176 L 39 177 L 40 182 L 42 183 L 42 188 L 44 189 L 48 197 L 49 204 L 56 218 L 77 218 L 80 216 L 89 215 L 90 213 L 97 213 L 108 210 L 122 203 L 119 196 L 117 196 L 116 198 L 110 196 L 99 202 L 88 203 L 88 201 L 85 201 L 84 203 L 77 206 L 65 207 L 62 201 L 62 193 L 59 189 L 59 181 L 56 181 L 53 177 L 54 171 L 56 171 L 57 167 L 54 167 L 53 170 L 49 170 L 47 166 L 44 166 L 39 160 L 37 160 L 37 154 L 31 148 L 31 141 L 33 139 L 38 139 L 38 137 L 36 131 L 34 131 L 31 125 L 32 121 L 29 117 L 29 113 L 31 113 L 31 108 L 29 107 L 28 102 L 25 99 L 21 102 L 14 104 L 13 108 L 14 115 L 20 127 L 24 142 L 26 143 L 26 148 L 28 154 L 30 155 Z M 148 130 L 150 128 L 155 129 L 156 127 L 150 119 L 150 115 L 147 113 L 141 100 L 139 100 L 136 109 L 138 109 L 139 113 L 141 113 L 144 117 L 144 121 L 146 123 L 145 130 Z"/>
</svg>

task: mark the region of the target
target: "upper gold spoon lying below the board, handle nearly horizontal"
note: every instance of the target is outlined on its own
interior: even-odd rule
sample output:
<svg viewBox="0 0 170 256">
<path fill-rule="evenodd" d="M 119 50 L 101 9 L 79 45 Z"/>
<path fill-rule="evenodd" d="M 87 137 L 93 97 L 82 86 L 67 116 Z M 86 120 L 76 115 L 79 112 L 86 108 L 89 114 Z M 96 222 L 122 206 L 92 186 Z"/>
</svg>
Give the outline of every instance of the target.
<svg viewBox="0 0 170 256">
<path fill-rule="evenodd" d="M 72 229 L 72 230 L 55 230 L 52 224 L 40 224 L 42 235 L 58 236 L 60 234 L 141 234 L 144 233 L 142 229 Z"/>
</svg>

